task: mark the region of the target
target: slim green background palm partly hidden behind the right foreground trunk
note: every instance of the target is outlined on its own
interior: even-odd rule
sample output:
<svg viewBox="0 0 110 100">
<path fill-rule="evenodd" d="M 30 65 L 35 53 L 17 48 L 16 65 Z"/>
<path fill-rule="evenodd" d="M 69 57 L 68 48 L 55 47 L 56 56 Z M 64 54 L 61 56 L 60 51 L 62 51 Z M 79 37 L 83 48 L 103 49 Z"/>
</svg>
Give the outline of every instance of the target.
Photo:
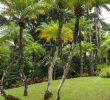
<svg viewBox="0 0 110 100">
<path fill-rule="evenodd" d="M 75 19 L 71 19 L 67 24 L 68 27 L 74 29 Z M 82 51 L 82 41 L 87 41 L 87 33 L 91 31 L 90 21 L 84 17 L 81 17 L 79 23 L 79 34 L 78 34 L 78 43 L 80 47 L 80 76 L 83 75 L 83 51 Z"/>
</svg>

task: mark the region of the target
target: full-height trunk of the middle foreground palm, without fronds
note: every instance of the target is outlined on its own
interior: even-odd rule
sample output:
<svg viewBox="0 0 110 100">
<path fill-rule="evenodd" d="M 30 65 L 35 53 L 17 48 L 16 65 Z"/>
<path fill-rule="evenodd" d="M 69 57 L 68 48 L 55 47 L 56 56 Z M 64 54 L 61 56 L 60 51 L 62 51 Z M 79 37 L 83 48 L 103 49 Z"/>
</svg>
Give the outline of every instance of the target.
<svg viewBox="0 0 110 100">
<path fill-rule="evenodd" d="M 52 85 L 52 76 L 53 76 L 53 68 L 59 53 L 59 50 L 62 46 L 62 41 L 61 41 L 61 32 L 63 28 L 63 21 L 64 21 L 64 11 L 63 11 L 63 5 L 62 5 L 62 0 L 59 1 L 58 6 L 60 8 L 59 10 L 59 27 L 58 27 L 58 35 L 57 35 L 57 46 L 56 46 L 56 51 L 54 53 L 54 56 L 51 58 L 51 64 L 48 69 L 48 86 L 47 90 L 44 94 L 44 100 L 48 100 L 52 96 L 51 92 L 51 85 Z"/>
</svg>

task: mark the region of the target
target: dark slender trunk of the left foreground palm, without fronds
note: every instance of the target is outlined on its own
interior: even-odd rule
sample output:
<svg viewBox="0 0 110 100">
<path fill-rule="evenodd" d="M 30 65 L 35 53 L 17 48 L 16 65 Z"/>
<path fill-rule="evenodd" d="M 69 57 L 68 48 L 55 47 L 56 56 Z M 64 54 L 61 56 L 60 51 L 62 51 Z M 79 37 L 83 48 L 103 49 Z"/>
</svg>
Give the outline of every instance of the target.
<svg viewBox="0 0 110 100">
<path fill-rule="evenodd" d="M 20 52 L 20 58 L 19 58 L 19 72 L 20 77 L 24 82 L 24 96 L 28 95 L 28 84 L 27 84 L 27 78 L 24 74 L 24 52 L 23 52 L 23 28 L 25 26 L 25 23 L 23 21 L 19 22 L 20 26 L 20 36 L 19 36 L 19 52 Z"/>
</svg>

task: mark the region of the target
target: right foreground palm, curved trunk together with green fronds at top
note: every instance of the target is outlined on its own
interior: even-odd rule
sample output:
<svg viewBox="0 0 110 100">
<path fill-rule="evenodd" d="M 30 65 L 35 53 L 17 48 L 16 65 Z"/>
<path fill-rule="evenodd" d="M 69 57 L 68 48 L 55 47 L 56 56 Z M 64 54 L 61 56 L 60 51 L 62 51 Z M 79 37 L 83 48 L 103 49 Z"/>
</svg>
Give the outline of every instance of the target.
<svg viewBox="0 0 110 100">
<path fill-rule="evenodd" d="M 72 11 L 74 11 L 74 15 L 75 15 L 75 19 L 76 19 L 74 30 L 73 30 L 74 42 L 72 42 L 72 44 L 71 44 L 71 48 L 70 48 L 70 51 L 69 51 L 69 54 L 68 54 L 68 60 L 67 60 L 67 63 L 65 65 L 65 69 L 64 69 L 64 72 L 63 72 L 61 83 L 58 87 L 56 100 L 60 100 L 60 91 L 61 91 L 63 83 L 66 79 L 66 76 L 68 74 L 70 64 L 71 64 L 71 61 L 72 61 L 73 50 L 74 50 L 75 45 L 76 45 L 77 40 L 78 40 L 79 20 L 80 20 L 81 16 L 83 15 L 82 5 L 83 4 L 89 4 L 90 2 L 91 2 L 91 0 L 69 0 L 68 3 L 67 3 L 67 7 L 70 8 Z"/>
</svg>

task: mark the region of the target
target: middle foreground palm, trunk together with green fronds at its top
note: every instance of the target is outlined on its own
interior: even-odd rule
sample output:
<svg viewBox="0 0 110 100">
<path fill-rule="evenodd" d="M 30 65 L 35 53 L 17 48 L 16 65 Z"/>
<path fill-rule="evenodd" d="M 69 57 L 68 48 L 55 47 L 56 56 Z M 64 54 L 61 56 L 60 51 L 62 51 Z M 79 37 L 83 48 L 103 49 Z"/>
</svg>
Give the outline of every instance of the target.
<svg viewBox="0 0 110 100">
<path fill-rule="evenodd" d="M 64 0 L 46 0 L 49 4 L 52 4 L 52 6 L 56 6 L 58 8 L 59 11 L 59 26 L 58 26 L 58 34 L 56 37 L 57 40 L 57 45 L 56 45 L 56 50 L 53 54 L 53 56 L 50 58 L 51 59 L 51 64 L 49 66 L 48 69 L 48 86 L 47 86 L 47 90 L 44 94 L 44 99 L 50 97 L 52 95 L 51 93 L 51 84 L 52 84 L 52 74 L 53 74 L 53 68 L 56 62 L 56 58 L 58 55 L 58 52 L 62 46 L 61 43 L 61 33 L 62 33 L 62 28 L 63 28 L 63 24 L 64 24 Z"/>
</svg>

